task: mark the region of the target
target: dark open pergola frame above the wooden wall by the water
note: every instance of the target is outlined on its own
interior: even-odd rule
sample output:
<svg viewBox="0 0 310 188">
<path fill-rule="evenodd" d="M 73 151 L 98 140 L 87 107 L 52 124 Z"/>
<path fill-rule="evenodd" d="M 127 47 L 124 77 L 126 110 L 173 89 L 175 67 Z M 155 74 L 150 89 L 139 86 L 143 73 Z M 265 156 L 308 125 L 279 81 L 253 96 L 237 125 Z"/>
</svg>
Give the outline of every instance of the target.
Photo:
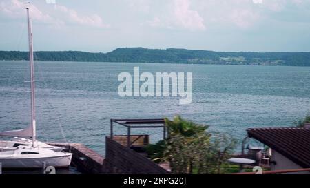
<svg viewBox="0 0 310 188">
<path fill-rule="evenodd" d="M 111 119 L 110 120 L 110 136 L 113 140 L 114 123 L 127 127 L 127 147 L 130 147 L 138 138 L 130 142 L 132 128 L 163 128 L 163 139 L 166 138 L 166 127 L 164 119 Z"/>
</svg>

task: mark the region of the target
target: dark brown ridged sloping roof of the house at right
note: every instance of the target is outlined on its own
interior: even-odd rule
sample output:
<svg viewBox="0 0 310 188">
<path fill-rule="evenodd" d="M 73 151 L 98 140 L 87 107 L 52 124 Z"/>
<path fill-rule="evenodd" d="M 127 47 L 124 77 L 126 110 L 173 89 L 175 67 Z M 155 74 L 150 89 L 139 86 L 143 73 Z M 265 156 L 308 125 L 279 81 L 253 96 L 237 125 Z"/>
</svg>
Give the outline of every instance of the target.
<svg viewBox="0 0 310 188">
<path fill-rule="evenodd" d="M 310 167 L 309 128 L 247 129 L 247 135 L 275 149 L 301 167 Z"/>
</svg>

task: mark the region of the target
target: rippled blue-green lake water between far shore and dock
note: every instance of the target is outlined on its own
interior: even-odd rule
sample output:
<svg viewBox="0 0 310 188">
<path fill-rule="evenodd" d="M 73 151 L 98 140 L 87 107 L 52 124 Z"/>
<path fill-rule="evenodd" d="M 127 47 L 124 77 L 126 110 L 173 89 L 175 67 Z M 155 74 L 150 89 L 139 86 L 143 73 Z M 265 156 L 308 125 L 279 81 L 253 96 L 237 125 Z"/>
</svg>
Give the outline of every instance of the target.
<svg viewBox="0 0 310 188">
<path fill-rule="evenodd" d="M 121 72 L 193 72 L 193 101 L 121 98 Z M 310 67 L 76 63 L 37 61 L 37 134 L 43 141 L 83 143 L 105 153 L 110 118 L 184 118 L 238 140 L 249 127 L 289 127 L 310 112 Z M 0 61 L 0 131 L 30 122 L 28 61 Z M 115 127 L 115 134 L 126 129 Z M 133 130 L 161 139 L 159 129 Z M 239 146 L 238 146 L 239 147 Z"/>
</svg>

